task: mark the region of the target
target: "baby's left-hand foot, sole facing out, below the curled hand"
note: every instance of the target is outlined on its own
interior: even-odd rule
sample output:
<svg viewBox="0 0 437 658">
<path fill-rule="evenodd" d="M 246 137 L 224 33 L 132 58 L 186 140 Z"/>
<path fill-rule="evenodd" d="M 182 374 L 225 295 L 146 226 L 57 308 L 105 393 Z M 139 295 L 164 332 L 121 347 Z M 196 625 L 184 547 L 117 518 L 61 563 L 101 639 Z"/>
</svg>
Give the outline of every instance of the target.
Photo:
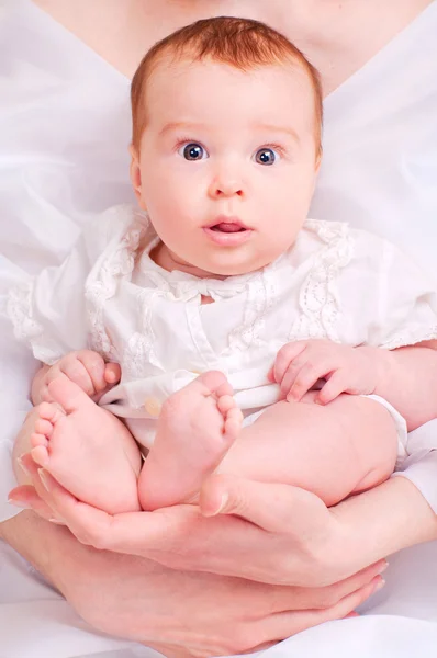
<svg viewBox="0 0 437 658">
<path fill-rule="evenodd" d="M 79 500 L 105 512 L 139 509 L 141 455 L 126 427 L 61 376 L 48 384 L 31 436 L 33 460 Z"/>
</svg>

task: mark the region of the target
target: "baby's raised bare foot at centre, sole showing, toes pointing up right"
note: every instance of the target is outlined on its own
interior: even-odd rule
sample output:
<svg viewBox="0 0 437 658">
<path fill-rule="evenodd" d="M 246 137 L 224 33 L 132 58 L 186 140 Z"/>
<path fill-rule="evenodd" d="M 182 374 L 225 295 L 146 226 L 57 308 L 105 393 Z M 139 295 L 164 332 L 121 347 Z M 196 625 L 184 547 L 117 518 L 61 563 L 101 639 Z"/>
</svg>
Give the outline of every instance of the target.
<svg viewBox="0 0 437 658">
<path fill-rule="evenodd" d="M 238 436 L 243 415 L 220 372 L 205 373 L 163 406 L 139 476 L 139 501 L 154 510 L 192 500 Z"/>
</svg>

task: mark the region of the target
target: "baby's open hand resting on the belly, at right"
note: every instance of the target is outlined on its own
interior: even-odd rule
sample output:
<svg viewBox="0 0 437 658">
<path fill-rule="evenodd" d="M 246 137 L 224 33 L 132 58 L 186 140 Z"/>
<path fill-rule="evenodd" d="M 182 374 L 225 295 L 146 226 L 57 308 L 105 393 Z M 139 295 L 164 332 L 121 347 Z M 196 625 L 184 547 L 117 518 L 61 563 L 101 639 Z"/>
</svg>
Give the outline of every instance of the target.
<svg viewBox="0 0 437 658">
<path fill-rule="evenodd" d="M 351 348 L 329 340 L 287 343 L 278 352 L 269 379 L 281 397 L 299 401 L 318 379 L 326 379 L 316 401 L 327 405 L 341 393 L 371 395 L 378 383 L 378 348 Z"/>
</svg>

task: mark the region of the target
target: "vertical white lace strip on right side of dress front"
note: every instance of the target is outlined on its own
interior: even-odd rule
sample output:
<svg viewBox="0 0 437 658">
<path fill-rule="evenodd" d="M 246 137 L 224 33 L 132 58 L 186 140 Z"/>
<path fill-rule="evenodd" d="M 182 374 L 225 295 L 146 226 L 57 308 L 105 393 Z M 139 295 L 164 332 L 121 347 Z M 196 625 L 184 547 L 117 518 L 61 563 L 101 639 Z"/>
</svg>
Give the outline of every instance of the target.
<svg viewBox="0 0 437 658">
<path fill-rule="evenodd" d="M 337 317 L 338 274 L 352 257 L 354 239 L 344 223 L 309 219 L 305 228 L 315 232 L 326 247 L 315 256 L 310 274 L 299 294 L 300 317 L 293 322 L 289 340 L 328 338 L 339 342 Z"/>
</svg>

